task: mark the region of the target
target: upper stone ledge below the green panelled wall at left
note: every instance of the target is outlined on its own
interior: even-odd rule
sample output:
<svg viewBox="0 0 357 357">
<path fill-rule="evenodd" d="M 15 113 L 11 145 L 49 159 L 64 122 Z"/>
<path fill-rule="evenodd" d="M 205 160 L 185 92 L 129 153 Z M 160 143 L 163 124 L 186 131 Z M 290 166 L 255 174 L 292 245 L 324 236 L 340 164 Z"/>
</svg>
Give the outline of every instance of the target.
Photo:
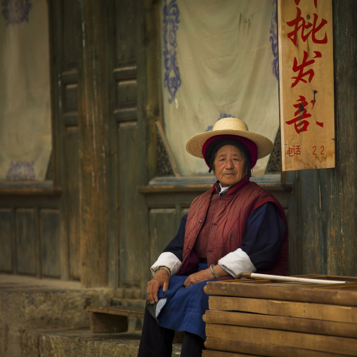
<svg viewBox="0 0 357 357">
<path fill-rule="evenodd" d="M 109 288 L 84 289 L 77 282 L 0 274 L 0 356 L 22 354 L 25 331 L 89 329 L 88 305 L 110 305 Z"/>
</svg>

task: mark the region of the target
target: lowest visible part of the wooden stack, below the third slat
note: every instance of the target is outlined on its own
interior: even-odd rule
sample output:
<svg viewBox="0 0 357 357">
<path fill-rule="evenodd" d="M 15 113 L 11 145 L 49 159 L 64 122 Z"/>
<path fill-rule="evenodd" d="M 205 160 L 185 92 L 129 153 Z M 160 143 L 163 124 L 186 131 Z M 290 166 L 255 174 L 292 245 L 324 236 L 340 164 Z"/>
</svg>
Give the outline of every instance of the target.
<svg viewBox="0 0 357 357">
<path fill-rule="evenodd" d="M 246 342 L 233 339 L 217 339 L 207 337 L 202 356 L 207 357 L 238 357 L 238 356 L 268 356 L 268 357 L 341 357 L 341 353 L 312 351 L 276 344 L 264 344 L 259 342 Z M 247 353 L 247 354 L 242 354 Z"/>
</svg>

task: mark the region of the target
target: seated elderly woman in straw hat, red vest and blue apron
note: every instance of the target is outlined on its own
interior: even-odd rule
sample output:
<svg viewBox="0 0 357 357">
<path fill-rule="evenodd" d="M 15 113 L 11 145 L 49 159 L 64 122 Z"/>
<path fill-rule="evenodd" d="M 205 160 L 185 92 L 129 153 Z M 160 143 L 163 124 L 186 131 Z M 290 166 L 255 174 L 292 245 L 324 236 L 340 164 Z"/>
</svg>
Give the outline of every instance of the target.
<svg viewBox="0 0 357 357">
<path fill-rule="evenodd" d="M 176 237 L 151 267 L 138 356 L 171 356 L 174 331 L 185 331 L 181 356 L 201 356 L 207 281 L 238 273 L 287 274 L 287 229 L 278 200 L 249 181 L 273 143 L 245 122 L 220 119 L 190 138 L 186 150 L 205 159 L 217 178 L 193 200 Z"/>
</svg>

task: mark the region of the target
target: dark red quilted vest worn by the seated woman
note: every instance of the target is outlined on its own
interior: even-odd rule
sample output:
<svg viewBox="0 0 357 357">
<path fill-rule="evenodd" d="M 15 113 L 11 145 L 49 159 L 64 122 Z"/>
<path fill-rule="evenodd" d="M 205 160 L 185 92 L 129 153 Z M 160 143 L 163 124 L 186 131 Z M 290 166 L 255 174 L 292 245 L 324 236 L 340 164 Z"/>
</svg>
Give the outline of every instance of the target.
<svg viewBox="0 0 357 357">
<path fill-rule="evenodd" d="M 178 274 L 197 271 L 199 259 L 193 252 L 193 247 L 205 221 L 209 202 L 214 191 L 215 186 L 195 198 L 190 206 L 185 228 L 182 264 Z M 214 239 L 209 239 L 207 247 L 208 266 L 211 264 L 216 265 L 219 259 L 242 246 L 249 215 L 264 203 L 273 202 L 278 207 L 280 217 L 285 221 L 286 225 L 285 212 L 278 200 L 260 188 L 257 183 L 250 182 L 249 178 L 243 178 L 242 181 L 228 190 L 225 196 L 220 197 L 219 201 L 209 236 L 211 238 L 214 235 Z M 278 261 L 272 268 L 266 271 L 259 271 L 259 273 L 287 275 L 287 232 L 284 236 Z M 220 280 L 230 278 L 233 279 L 231 275 L 226 275 L 221 277 Z"/>
</svg>

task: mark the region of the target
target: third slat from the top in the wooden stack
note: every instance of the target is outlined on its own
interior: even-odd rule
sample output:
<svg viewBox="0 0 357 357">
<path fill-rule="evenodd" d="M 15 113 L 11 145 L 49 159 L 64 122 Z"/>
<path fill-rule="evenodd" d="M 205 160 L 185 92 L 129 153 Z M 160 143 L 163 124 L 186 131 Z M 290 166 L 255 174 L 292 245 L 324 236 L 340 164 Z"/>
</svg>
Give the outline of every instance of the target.
<svg viewBox="0 0 357 357">
<path fill-rule="evenodd" d="M 203 320 L 205 323 L 261 327 L 273 330 L 357 338 L 357 324 L 354 323 L 336 323 L 311 320 L 310 318 L 290 318 L 285 316 L 214 310 L 207 310 L 203 316 Z"/>
</svg>

